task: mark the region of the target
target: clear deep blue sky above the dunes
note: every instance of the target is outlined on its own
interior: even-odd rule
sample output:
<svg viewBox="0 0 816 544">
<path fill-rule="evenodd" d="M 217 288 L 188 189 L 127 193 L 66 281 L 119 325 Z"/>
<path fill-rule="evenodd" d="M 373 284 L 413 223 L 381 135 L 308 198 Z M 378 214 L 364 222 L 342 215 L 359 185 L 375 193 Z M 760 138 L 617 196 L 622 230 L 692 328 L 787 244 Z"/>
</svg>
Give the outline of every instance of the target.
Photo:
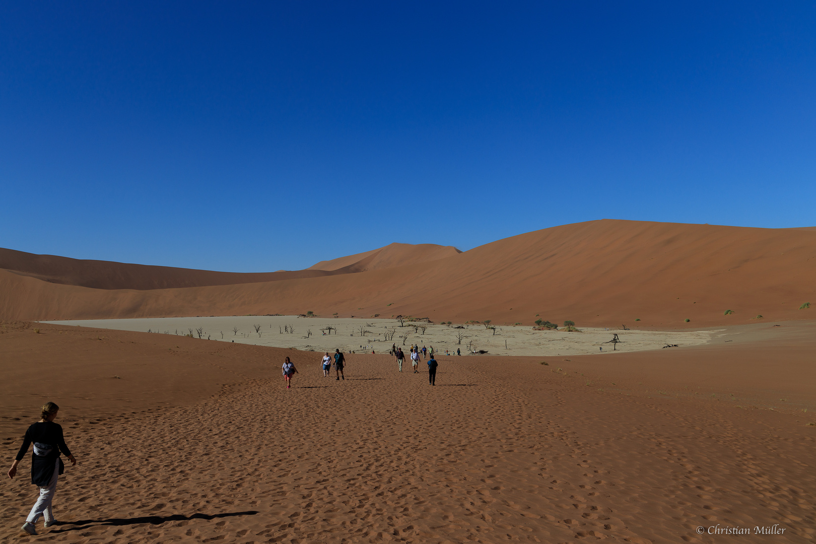
<svg viewBox="0 0 816 544">
<path fill-rule="evenodd" d="M 814 2 L 2 2 L 0 246 L 236 272 L 816 225 Z"/>
</svg>

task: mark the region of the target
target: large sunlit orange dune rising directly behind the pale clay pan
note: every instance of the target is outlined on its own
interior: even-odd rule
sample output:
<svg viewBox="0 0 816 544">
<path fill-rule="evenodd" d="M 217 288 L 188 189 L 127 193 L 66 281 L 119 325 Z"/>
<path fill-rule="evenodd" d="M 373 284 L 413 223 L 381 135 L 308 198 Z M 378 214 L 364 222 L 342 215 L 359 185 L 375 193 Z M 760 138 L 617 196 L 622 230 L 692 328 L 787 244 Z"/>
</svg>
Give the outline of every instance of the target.
<svg viewBox="0 0 816 544">
<path fill-rule="evenodd" d="M 800 310 L 805 302 L 814 308 Z M 604 219 L 529 232 L 416 266 L 163 290 L 89 289 L 0 271 L 0 317 L 6 319 L 307 309 L 325 316 L 525 325 L 540 316 L 584 326 L 662 328 L 813 319 L 816 232 Z"/>
</svg>

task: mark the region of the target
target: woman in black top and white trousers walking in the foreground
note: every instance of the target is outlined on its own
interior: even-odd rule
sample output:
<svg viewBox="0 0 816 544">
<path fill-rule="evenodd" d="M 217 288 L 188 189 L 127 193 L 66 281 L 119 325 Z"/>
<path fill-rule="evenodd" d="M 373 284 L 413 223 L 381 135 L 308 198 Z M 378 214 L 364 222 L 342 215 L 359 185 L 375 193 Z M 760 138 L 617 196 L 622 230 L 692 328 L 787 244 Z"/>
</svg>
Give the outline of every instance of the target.
<svg viewBox="0 0 816 544">
<path fill-rule="evenodd" d="M 51 502 L 56 493 L 56 482 L 60 474 L 65 471 L 60 452 L 69 458 L 72 465 L 77 464 L 76 458 L 65 444 L 62 426 L 54 422 L 59 411 L 60 407 L 53 402 L 42 405 L 42 419 L 33 423 L 29 430 L 25 431 L 23 445 L 20 446 L 17 457 L 11 463 L 11 468 L 8 469 L 8 477 L 14 478 L 14 475 L 17 474 L 17 465 L 29 451 L 29 446 L 34 444 L 34 451 L 31 454 L 31 483 L 39 486 L 40 496 L 22 527 L 22 530 L 29 534 L 37 534 L 35 524 L 41 515 L 45 519 L 46 529 L 57 523 L 54 519 L 54 511 L 51 509 Z"/>
</svg>

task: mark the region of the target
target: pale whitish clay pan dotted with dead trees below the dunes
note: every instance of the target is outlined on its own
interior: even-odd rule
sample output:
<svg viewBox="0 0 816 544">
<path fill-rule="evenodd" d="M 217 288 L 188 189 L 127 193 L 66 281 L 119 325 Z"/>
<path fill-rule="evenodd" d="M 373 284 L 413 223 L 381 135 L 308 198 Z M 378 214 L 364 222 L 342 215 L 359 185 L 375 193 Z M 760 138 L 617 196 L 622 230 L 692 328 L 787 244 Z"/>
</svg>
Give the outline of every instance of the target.
<svg viewBox="0 0 816 544">
<path fill-rule="evenodd" d="M 499 325 L 494 331 L 486 325 L 438 325 L 404 321 L 405 326 L 401 326 L 399 321 L 390 319 L 322 319 L 299 316 L 165 317 L 48 322 L 182 336 L 194 334 L 196 337 L 197 329 L 202 329 L 202 338 L 211 340 L 294 347 L 307 352 L 334 352 L 339 349 L 342 352 L 387 353 L 396 343 L 404 352 L 408 352 L 411 344 L 417 344 L 433 346 L 437 354 L 444 354 L 446 350 L 454 353 L 460 349 L 467 355 L 470 347 L 473 351 L 482 350 L 490 355 L 515 356 L 602 355 L 613 351 L 661 349 L 667 344 L 688 347 L 718 338 L 723 331 L 712 329 L 667 332 L 581 327 L 580 332 L 570 333 L 563 328 L 533 330 L 529 326 L 512 325 Z M 257 332 L 256 325 L 259 327 Z M 286 328 L 290 327 L 295 332 L 286 334 Z M 329 331 L 329 327 L 335 330 Z M 463 335 L 461 343 L 457 334 Z M 607 343 L 613 334 L 618 334 L 622 343 L 616 346 Z"/>
</svg>

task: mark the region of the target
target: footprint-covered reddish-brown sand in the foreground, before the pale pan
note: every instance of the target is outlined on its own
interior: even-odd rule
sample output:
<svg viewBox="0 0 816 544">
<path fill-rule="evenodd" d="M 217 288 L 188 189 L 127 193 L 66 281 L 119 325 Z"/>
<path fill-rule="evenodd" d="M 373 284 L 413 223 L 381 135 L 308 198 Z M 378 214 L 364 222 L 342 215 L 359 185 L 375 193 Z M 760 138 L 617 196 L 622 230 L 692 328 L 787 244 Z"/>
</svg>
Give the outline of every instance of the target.
<svg viewBox="0 0 816 544">
<path fill-rule="evenodd" d="M 0 489 L 2 542 L 816 537 L 812 322 L 549 365 L 442 356 L 436 387 L 381 355 L 348 356 L 337 381 L 317 352 L 0 325 L 7 463 L 44 400 L 79 459 L 62 523 L 38 537 L 18 531 L 35 497 L 21 463 Z"/>
</svg>

